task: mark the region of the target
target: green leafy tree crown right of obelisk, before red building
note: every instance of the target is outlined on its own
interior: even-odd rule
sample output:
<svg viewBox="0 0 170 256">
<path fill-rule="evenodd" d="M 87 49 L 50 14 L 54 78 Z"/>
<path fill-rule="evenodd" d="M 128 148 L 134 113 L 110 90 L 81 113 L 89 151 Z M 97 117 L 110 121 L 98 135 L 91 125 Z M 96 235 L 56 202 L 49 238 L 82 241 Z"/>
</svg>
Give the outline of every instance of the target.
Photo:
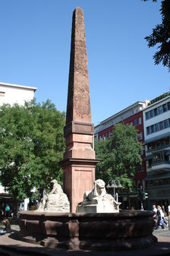
<svg viewBox="0 0 170 256">
<path fill-rule="evenodd" d="M 140 152 L 143 149 L 137 137 L 134 126 L 117 124 L 109 140 L 96 141 L 96 157 L 100 160 L 96 166 L 97 179 L 106 183 L 118 179 L 123 188 L 134 188 L 134 175 L 142 163 Z"/>
</svg>

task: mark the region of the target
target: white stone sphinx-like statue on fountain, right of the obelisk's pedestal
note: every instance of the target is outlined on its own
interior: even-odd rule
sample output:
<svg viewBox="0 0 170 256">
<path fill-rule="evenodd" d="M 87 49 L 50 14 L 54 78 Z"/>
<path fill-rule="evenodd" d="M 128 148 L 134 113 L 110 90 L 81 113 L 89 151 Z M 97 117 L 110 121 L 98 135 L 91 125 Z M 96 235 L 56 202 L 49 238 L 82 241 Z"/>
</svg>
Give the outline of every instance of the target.
<svg viewBox="0 0 170 256">
<path fill-rule="evenodd" d="M 119 212 L 120 204 L 115 201 L 112 194 L 107 194 L 105 182 L 102 179 L 97 179 L 94 182 L 93 190 L 84 193 L 83 202 L 77 205 L 77 212 L 116 213 Z"/>
</svg>

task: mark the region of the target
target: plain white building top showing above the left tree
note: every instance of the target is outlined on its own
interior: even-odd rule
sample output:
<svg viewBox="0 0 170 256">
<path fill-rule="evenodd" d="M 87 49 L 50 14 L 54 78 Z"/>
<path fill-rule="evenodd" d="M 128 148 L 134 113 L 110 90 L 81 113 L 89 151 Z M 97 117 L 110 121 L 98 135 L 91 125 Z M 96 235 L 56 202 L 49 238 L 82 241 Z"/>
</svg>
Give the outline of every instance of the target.
<svg viewBox="0 0 170 256">
<path fill-rule="evenodd" d="M 24 105 L 25 101 L 33 100 L 36 87 L 26 87 L 17 84 L 0 82 L 0 106 L 4 103 Z"/>
</svg>

